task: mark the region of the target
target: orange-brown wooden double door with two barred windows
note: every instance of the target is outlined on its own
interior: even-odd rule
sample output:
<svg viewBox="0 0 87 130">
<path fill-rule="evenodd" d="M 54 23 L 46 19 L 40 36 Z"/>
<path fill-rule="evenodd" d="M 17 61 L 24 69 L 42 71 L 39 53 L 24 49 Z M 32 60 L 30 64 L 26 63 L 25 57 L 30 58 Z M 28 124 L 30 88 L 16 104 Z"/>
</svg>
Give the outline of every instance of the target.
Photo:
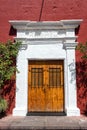
<svg viewBox="0 0 87 130">
<path fill-rule="evenodd" d="M 28 111 L 64 111 L 63 61 L 29 61 Z"/>
</svg>

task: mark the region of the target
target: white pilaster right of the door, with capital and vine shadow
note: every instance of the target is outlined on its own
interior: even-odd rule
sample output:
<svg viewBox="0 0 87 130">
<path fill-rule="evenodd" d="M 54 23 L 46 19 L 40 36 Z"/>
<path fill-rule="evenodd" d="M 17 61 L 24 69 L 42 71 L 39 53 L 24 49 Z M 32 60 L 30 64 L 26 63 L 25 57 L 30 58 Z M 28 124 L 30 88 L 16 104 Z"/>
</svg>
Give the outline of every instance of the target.
<svg viewBox="0 0 87 130">
<path fill-rule="evenodd" d="M 76 43 L 64 43 L 67 64 L 67 116 L 80 115 L 80 110 L 77 108 L 75 46 Z"/>
</svg>

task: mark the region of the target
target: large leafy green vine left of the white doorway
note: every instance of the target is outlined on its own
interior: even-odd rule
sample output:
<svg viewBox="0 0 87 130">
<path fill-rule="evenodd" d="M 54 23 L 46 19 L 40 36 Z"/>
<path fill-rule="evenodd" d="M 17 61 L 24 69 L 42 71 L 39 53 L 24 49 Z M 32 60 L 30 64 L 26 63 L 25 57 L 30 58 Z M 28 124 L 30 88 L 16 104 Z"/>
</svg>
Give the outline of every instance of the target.
<svg viewBox="0 0 87 130">
<path fill-rule="evenodd" d="M 20 45 L 20 42 L 13 43 L 12 41 L 0 43 L 0 88 L 17 71 L 15 63 Z"/>
</svg>

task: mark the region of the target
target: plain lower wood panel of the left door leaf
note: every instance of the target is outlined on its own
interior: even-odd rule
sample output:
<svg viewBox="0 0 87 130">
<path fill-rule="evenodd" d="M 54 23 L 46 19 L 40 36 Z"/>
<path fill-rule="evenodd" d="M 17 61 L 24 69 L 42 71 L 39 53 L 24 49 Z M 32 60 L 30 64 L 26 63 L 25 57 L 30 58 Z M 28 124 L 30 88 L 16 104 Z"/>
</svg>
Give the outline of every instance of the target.
<svg viewBox="0 0 87 130">
<path fill-rule="evenodd" d="M 32 88 L 29 90 L 29 111 L 45 110 L 45 95 L 41 88 Z"/>
</svg>

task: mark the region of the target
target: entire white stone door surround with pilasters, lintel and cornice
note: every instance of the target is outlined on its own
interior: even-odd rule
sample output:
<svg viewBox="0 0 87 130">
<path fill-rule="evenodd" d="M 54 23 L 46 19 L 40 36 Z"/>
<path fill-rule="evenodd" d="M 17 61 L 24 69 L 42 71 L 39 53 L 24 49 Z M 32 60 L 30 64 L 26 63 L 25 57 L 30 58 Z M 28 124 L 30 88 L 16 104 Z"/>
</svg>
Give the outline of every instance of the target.
<svg viewBox="0 0 87 130">
<path fill-rule="evenodd" d="M 64 60 L 64 95 L 67 116 L 79 116 L 77 108 L 75 76 L 75 28 L 79 20 L 60 20 L 48 22 L 9 21 L 17 29 L 16 40 L 22 41 L 17 57 L 20 73 L 16 78 L 15 116 L 26 116 L 28 106 L 28 61 Z"/>
</svg>

